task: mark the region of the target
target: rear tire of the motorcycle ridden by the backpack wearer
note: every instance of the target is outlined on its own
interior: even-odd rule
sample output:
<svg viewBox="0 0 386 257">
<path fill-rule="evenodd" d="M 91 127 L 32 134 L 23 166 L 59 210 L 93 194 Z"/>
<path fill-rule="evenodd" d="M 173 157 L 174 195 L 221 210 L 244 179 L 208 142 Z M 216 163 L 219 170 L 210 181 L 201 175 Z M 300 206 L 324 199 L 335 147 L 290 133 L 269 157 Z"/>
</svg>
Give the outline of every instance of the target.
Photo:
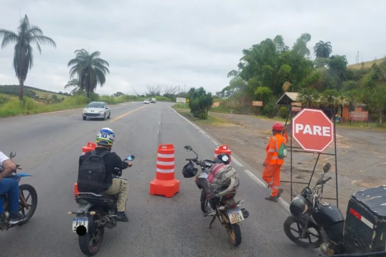
<svg viewBox="0 0 386 257">
<path fill-rule="evenodd" d="M 89 227 L 88 231 L 83 236 L 78 236 L 78 242 L 79 242 L 79 248 L 82 251 L 82 253 L 86 256 L 94 256 L 96 255 L 103 242 L 103 236 L 104 236 L 104 227 L 98 227 L 95 223 L 101 216 L 102 213 L 97 208 L 90 209 L 89 210 L 96 212 L 95 215 L 88 215 L 89 216 Z M 96 238 L 94 238 L 96 237 Z M 93 244 L 90 245 L 91 241 L 93 241 Z"/>
</svg>

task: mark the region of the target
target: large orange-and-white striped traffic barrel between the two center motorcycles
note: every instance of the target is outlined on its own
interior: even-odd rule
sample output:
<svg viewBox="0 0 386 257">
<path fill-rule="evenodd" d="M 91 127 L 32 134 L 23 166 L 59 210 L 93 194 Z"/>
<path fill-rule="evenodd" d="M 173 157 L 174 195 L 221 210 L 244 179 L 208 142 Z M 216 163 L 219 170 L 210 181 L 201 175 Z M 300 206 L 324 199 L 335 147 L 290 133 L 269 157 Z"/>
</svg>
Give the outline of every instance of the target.
<svg viewBox="0 0 386 257">
<path fill-rule="evenodd" d="M 155 178 L 150 182 L 150 195 L 173 197 L 180 191 L 180 181 L 174 178 L 174 146 L 158 146 Z"/>
</svg>

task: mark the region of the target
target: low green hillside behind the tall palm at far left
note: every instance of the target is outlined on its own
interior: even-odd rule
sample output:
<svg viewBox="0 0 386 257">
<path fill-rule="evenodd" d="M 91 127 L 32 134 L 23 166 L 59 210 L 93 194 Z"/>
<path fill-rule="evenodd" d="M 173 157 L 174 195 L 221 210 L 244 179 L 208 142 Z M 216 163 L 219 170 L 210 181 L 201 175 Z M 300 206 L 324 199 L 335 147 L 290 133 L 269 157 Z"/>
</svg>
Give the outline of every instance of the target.
<svg viewBox="0 0 386 257">
<path fill-rule="evenodd" d="M 19 85 L 0 85 L 0 94 L 18 96 L 19 92 L 20 92 Z M 56 98 L 62 98 L 62 97 L 66 98 L 70 94 L 63 93 L 63 92 L 52 92 L 49 90 L 40 89 L 33 86 L 24 86 L 24 95 L 35 99 L 41 99 L 41 98 L 47 99 L 47 98 L 52 98 L 53 95 L 56 95 Z"/>
</svg>

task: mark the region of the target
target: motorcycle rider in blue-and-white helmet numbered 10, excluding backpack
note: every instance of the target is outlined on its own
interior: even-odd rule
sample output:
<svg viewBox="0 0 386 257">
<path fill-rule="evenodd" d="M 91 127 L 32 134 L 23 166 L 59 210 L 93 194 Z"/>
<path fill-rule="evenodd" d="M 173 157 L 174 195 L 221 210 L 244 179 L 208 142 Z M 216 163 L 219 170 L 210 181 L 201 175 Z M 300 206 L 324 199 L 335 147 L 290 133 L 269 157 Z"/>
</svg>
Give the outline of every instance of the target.
<svg viewBox="0 0 386 257">
<path fill-rule="evenodd" d="M 125 211 L 126 211 L 126 200 L 128 194 L 129 183 L 125 179 L 121 178 L 113 178 L 114 168 L 117 167 L 121 170 L 126 169 L 127 167 L 131 167 L 133 165 L 132 162 L 122 159 L 115 153 L 111 152 L 111 147 L 115 140 L 115 134 L 112 129 L 103 128 L 97 132 L 97 148 L 95 148 L 96 154 L 101 154 L 106 149 L 108 152 L 103 156 L 103 161 L 105 163 L 106 169 L 106 187 L 103 193 L 106 195 L 117 195 L 117 216 L 115 217 L 117 220 L 128 222 Z M 82 165 L 83 160 L 86 160 L 88 156 L 91 155 L 91 152 L 86 153 L 85 155 L 79 158 L 79 167 Z M 127 162 L 126 162 L 127 161 Z"/>
</svg>

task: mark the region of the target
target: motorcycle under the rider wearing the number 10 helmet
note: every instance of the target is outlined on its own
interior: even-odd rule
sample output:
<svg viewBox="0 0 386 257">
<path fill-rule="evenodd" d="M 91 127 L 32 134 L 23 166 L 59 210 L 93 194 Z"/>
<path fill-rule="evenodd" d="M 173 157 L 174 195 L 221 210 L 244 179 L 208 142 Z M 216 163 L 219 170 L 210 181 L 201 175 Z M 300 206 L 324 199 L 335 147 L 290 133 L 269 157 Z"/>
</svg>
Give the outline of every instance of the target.
<svg viewBox="0 0 386 257">
<path fill-rule="evenodd" d="M 133 161 L 134 155 L 125 160 Z M 122 178 L 122 170 L 114 168 L 113 178 Z M 75 201 L 78 204 L 76 214 L 72 219 L 72 232 L 77 233 L 80 250 L 86 256 L 96 255 L 102 245 L 104 228 L 113 229 L 117 226 L 117 196 L 91 192 L 77 193 Z"/>
</svg>

